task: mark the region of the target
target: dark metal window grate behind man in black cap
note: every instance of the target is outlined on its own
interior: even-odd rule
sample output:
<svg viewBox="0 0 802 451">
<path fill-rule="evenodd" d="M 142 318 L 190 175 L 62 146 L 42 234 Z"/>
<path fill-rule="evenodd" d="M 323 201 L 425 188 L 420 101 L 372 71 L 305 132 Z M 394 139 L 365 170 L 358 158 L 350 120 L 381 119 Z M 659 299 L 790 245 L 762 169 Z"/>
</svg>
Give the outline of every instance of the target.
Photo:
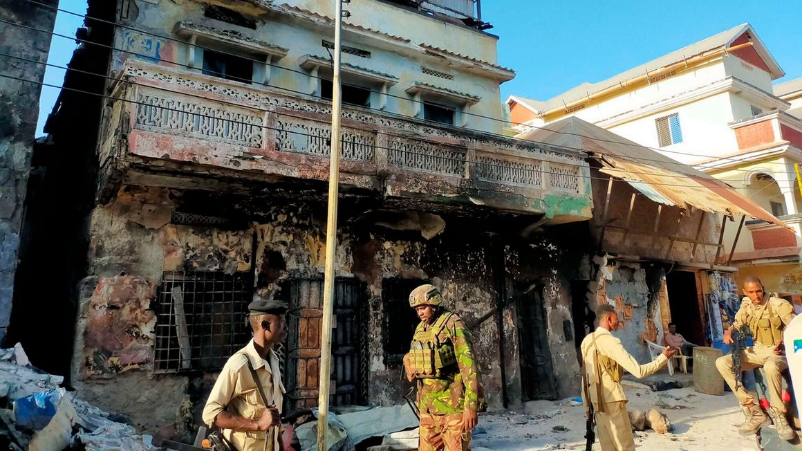
<svg viewBox="0 0 802 451">
<path fill-rule="evenodd" d="M 153 372 L 217 370 L 253 336 L 249 273 L 164 273 L 156 305 Z"/>
</svg>

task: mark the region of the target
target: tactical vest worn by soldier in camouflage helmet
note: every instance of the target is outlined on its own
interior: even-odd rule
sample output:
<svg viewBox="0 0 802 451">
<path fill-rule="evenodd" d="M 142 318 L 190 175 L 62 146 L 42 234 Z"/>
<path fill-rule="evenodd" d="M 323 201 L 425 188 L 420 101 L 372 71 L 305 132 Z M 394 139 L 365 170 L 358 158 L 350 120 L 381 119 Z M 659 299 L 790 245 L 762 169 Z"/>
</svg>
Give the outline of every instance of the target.
<svg viewBox="0 0 802 451">
<path fill-rule="evenodd" d="M 416 378 L 440 378 L 448 374 L 444 370 L 456 364 L 453 343 L 451 340 L 440 343 L 439 338 L 440 332 L 453 315 L 451 312 L 444 312 L 427 330 L 423 330 L 423 324 L 415 330 L 409 353 L 411 372 Z"/>
</svg>

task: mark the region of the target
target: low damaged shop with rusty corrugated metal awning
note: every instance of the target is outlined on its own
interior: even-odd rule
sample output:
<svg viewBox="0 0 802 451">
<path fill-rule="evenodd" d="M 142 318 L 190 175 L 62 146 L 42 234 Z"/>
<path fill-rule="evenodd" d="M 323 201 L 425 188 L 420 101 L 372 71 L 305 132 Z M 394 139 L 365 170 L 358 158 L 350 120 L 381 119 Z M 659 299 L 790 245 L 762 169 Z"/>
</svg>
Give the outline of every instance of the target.
<svg viewBox="0 0 802 451">
<path fill-rule="evenodd" d="M 662 345 L 670 322 L 691 343 L 720 341 L 741 299 L 732 266 L 737 238 L 724 245 L 727 227 L 741 233 L 735 217 L 787 226 L 722 181 L 575 116 L 518 137 L 589 155 L 586 312 L 613 304 L 617 335 L 642 362 L 652 360 L 647 342 Z M 574 304 L 581 294 L 577 282 Z M 593 330 L 592 318 L 582 324 L 574 316 L 577 335 Z"/>
</svg>

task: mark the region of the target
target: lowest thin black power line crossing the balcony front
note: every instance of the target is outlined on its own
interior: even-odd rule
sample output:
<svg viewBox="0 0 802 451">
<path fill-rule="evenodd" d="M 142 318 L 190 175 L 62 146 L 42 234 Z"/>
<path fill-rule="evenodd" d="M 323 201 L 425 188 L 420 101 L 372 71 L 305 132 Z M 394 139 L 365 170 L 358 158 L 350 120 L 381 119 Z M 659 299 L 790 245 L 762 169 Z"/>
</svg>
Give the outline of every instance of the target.
<svg viewBox="0 0 802 451">
<path fill-rule="evenodd" d="M 98 75 L 98 74 L 94 74 L 94 75 L 102 76 L 102 75 Z M 228 121 L 228 122 L 230 122 L 232 124 L 241 124 L 241 125 L 245 125 L 245 126 L 249 126 L 249 127 L 263 128 L 263 129 L 268 129 L 268 130 L 273 130 L 273 131 L 278 131 L 278 132 L 287 132 L 286 130 L 282 130 L 282 129 L 279 129 L 279 128 L 271 128 L 271 127 L 268 127 L 268 126 L 265 126 L 265 125 L 262 125 L 262 124 L 248 124 L 248 123 L 245 123 L 245 122 L 242 122 L 242 121 L 238 121 L 238 120 L 221 119 L 221 118 L 218 118 L 218 117 L 215 117 L 215 116 L 209 116 L 209 115 L 205 115 L 205 114 L 201 114 L 201 113 L 187 112 L 187 111 L 184 111 L 184 110 L 180 110 L 178 108 L 160 107 L 160 106 L 156 106 L 156 105 L 153 105 L 153 104 L 147 104 L 145 102 L 140 102 L 140 101 L 137 101 L 137 100 L 121 99 L 121 98 L 115 97 L 113 95 L 106 95 L 106 94 L 100 94 L 100 93 L 97 93 L 97 92 L 84 91 L 82 89 L 77 89 L 77 88 L 74 88 L 74 87 L 64 87 L 64 86 L 58 86 L 58 85 L 51 84 L 51 83 L 43 83 L 43 82 L 38 82 L 38 81 L 34 81 L 34 80 L 29 80 L 29 79 L 22 79 L 22 78 L 19 78 L 19 77 L 15 77 L 13 75 L 0 74 L 0 77 L 6 78 L 6 79 L 14 79 L 14 80 L 21 81 L 21 82 L 24 82 L 24 83 L 38 84 L 38 85 L 43 86 L 43 87 L 55 87 L 57 89 L 63 89 L 65 91 L 73 91 L 73 92 L 77 92 L 77 93 L 80 93 L 80 94 L 86 94 L 86 95 L 95 95 L 95 96 L 98 96 L 98 97 L 101 97 L 101 98 L 104 98 L 104 99 L 108 99 L 108 100 L 118 100 L 118 101 L 122 101 L 122 102 L 128 102 L 128 103 L 131 103 L 131 104 L 142 105 L 142 106 L 149 107 L 149 108 L 156 108 L 156 109 L 160 109 L 160 110 L 179 112 L 179 113 L 182 113 L 182 114 L 185 114 L 185 115 L 205 117 L 205 118 L 214 119 L 214 120 L 225 120 L 225 121 Z M 148 87 L 151 87 L 151 86 L 148 86 Z M 169 91 L 169 90 L 165 90 L 165 91 Z M 174 92 L 174 91 L 169 91 L 169 92 Z M 308 118 L 303 118 L 303 119 L 307 119 L 308 120 Z M 314 137 L 314 138 L 318 138 L 318 139 L 326 137 L 326 136 L 310 135 L 308 133 L 301 133 L 301 132 L 288 132 L 288 133 L 292 133 L 292 134 L 299 135 L 299 136 L 310 136 L 310 137 Z M 383 132 L 377 132 L 377 133 L 384 134 Z M 401 136 L 401 137 L 403 137 L 403 138 L 405 138 L 407 140 L 414 140 L 414 138 L 411 138 L 411 137 L 408 137 L 408 136 Z M 451 146 L 451 147 L 463 148 L 463 149 L 466 149 L 466 150 L 468 149 L 467 147 L 464 147 L 464 146 L 457 146 L 457 145 L 452 145 L 452 144 L 448 144 L 448 145 Z M 398 149 L 395 149 L 395 148 L 383 147 L 383 146 L 378 146 L 378 145 L 373 145 L 372 147 L 373 148 L 378 148 L 378 149 L 384 149 L 384 150 L 392 150 L 392 151 L 395 151 L 395 152 L 407 153 L 407 154 L 410 154 L 410 155 L 428 156 L 428 157 L 436 159 L 436 160 L 451 160 L 451 161 L 456 161 L 456 162 L 458 162 L 460 164 L 463 164 L 463 165 L 466 163 L 466 160 L 452 158 L 452 157 L 449 157 L 449 156 L 429 155 L 429 154 L 420 153 L 420 152 L 411 152 L 411 151 L 405 151 L 405 150 L 398 150 Z M 302 155 L 308 155 L 306 152 L 299 152 L 299 153 L 302 154 Z M 492 163 L 478 163 L 478 162 L 475 162 L 474 164 L 475 165 L 484 165 L 484 166 L 488 166 L 488 167 L 509 169 L 508 166 L 493 165 Z M 573 166 L 575 166 L 577 168 L 585 167 L 585 166 L 578 166 L 578 165 L 573 165 Z M 541 173 L 541 174 L 549 174 L 549 175 L 564 175 L 562 173 L 553 173 L 553 172 L 549 172 L 549 171 L 543 171 L 543 170 L 540 170 L 540 169 L 516 169 L 516 170 L 520 170 L 521 172 L 532 172 L 532 173 Z M 682 177 L 681 174 L 679 174 L 679 175 L 680 175 L 680 177 Z M 590 179 L 590 180 L 600 180 L 600 181 L 608 181 L 609 180 L 606 177 L 593 177 L 593 176 L 585 176 L 585 175 L 581 175 L 581 174 L 577 174 L 576 177 L 577 178 L 587 178 L 587 179 Z M 662 176 L 662 177 L 670 177 L 670 176 Z M 621 178 L 621 177 L 619 177 L 619 178 Z M 666 185 L 666 186 L 687 187 L 687 188 L 700 188 L 701 187 L 701 188 L 708 188 L 708 189 L 739 189 L 739 188 L 733 188 L 733 187 L 730 187 L 730 186 L 727 186 L 727 185 L 722 185 L 722 186 L 678 185 L 678 184 L 675 184 L 675 183 L 653 183 L 653 182 L 642 182 L 642 181 L 634 181 L 634 183 L 644 183 L 646 185 Z M 742 188 L 740 188 L 740 189 L 742 189 Z"/>
</svg>

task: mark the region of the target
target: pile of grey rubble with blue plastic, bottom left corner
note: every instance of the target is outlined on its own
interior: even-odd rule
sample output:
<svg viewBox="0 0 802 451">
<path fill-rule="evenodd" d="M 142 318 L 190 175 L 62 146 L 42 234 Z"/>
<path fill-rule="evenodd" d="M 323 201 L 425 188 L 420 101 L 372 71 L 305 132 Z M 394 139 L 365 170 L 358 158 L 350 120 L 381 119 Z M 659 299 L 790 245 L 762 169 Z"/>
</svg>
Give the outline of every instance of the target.
<svg viewBox="0 0 802 451">
<path fill-rule="evenodd" d="M 151 437 L 61 388 L 64 378 L 30 365 L 22 347 L 0 349 L 0 447 L 14 450 L 151 451 Z"/>
</svg>

